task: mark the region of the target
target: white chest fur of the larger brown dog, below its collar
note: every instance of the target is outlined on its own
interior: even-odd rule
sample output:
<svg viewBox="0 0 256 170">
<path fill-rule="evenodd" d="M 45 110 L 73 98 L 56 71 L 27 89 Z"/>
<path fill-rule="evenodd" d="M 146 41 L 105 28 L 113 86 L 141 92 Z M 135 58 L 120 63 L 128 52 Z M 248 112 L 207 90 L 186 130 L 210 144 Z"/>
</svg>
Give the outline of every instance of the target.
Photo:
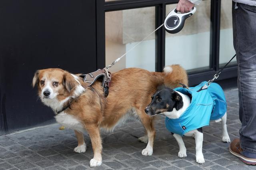
<svg viewBox="0 0 256 170">
<path fill-rule="evenodd" d="M 55 119 L 60 125 L 66 128 L 70 128 L 72 130 L 77 130 L 80 132 L 84 131 L 84 126 L 82 125 L 82 123 L 78 119 L 76 119 L 76 117 L 74 117 L 73 115 L 68 115 L 64 111 L 56 115 Z"/>
</svg>

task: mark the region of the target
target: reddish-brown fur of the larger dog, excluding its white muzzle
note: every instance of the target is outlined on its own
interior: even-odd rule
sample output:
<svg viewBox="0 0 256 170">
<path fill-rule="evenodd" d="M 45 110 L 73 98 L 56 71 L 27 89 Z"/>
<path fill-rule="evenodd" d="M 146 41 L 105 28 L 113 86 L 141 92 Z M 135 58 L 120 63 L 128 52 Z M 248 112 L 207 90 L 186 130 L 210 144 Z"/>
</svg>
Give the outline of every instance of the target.
<svg viewBox="0 0 256 170">
<path fill-rule="evenodd" d="M 88 131 L 92 140 L 94 159 L 101 161 L 102 144 L 100 127 L 111 130 L 118 121 L 133 109 L 142 122 L 148 135 L 148 141 L 153 147 L 156 131 L 153 126 L 153 118 L 144 112 L 151 101 L 151 96 L 160 85 L 170 88 L 180 87 L 179 83 L 188 85 L 186 71 L 179 65 L 172 65 L 171 73 L 149 72 L 144 69 L 128 68 L 112 74 L 112 82 L 108 97 L 104 97 L 100 81 L 96 81 L 91 87 L 79 80 L 83 87 L 87 87 L 76 100 L 71 103 L 65 113 L 73 115 Z M 38 85 L 38 95 L 41 94 L 40 81 L 48 79 L 59 82 L 54 91 L 58 91 L 58 100 L 61 101 L 74 93 L 78 82 L 67 71 L 62 69 L 44 69 L 35 73 L 32 85 Z M 83 144 L 84 138 L 81 132 L 75 130 L 78 146 Z"/>
</svg>

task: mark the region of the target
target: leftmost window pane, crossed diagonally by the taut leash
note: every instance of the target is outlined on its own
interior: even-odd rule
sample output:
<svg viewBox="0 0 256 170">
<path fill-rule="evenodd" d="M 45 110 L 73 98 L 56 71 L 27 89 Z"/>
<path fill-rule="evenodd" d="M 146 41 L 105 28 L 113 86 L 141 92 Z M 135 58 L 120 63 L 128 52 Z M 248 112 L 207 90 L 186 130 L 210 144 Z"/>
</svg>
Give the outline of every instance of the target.
<svg viewBox="0 0 256 170">
<path fill-rule="evenodd" d="M 126 53 L 155 30 L 155 7 L 105 13 L 106 65 Z M 110 71 L 139 67 L 155 71 L 155 35 L 132 49 Z"/>
</svg>

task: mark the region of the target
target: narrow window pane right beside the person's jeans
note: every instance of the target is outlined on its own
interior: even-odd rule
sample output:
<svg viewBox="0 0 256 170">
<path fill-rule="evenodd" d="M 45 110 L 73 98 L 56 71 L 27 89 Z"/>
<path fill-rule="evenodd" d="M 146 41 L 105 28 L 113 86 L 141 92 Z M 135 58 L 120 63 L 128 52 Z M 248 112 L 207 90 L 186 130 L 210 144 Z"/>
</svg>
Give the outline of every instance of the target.
<svg viewBox="0 0 256 170">
<path fill-rule="evenodd" d="M 220 64 L 226 64 L 236 53 L 233 46 L 232 1 L 222 0 L 220 10 Z M 232 60 L 236 64 L 236 58 Z M 230 65 L 229 65 L 230 66 Z"/>
</svg>

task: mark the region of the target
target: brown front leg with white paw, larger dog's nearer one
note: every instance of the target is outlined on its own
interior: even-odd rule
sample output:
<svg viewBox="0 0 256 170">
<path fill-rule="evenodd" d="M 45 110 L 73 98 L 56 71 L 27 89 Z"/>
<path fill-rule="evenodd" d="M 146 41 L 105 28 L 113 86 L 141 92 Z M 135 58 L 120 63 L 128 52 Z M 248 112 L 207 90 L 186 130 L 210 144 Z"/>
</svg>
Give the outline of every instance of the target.
<svg viewBox="0 0 256 170">
<path fill-rule="evenodd" d="M 102 163 L 102 143 L 100 138 L 100 129 L 97 125 L 87 126 L 86 130 L 92 141 L 93 158 L 90 160 L 90 167 L 100 166 Z"/>
</svg>

